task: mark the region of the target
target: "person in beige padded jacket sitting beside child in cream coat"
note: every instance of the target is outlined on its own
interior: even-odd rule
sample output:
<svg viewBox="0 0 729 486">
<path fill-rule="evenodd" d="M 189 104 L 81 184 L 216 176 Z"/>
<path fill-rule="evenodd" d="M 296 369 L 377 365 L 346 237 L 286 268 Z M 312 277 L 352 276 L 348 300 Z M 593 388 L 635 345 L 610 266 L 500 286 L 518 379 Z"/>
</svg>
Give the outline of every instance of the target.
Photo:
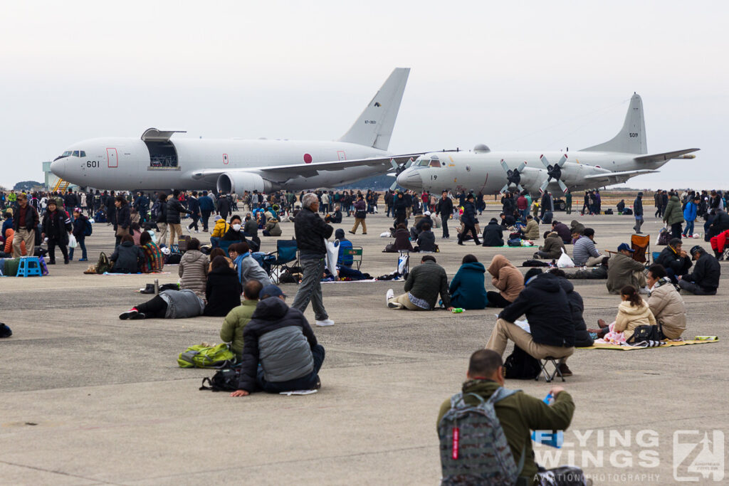
<svg viewBox="0 0 729 486">
<path fill-rule="evenodd" d="M 646 278 L 650 297 L 648 307 L 660 325 L 660 331 L 669 340 L 677 340 L 686 330 L 686 305 L 666 269 L 658 264 L 648 267 Z"/>
</svg>

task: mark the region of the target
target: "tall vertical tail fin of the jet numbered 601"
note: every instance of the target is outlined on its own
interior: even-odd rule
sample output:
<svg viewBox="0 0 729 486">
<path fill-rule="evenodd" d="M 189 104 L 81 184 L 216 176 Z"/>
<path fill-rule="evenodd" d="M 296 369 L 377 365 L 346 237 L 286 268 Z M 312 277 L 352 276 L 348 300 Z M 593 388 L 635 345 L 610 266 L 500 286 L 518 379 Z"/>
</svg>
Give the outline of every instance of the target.
<svg viewBox="0 0 729 486">
<path fill-rule="evenodd" d="M 340 141 L 387 150 L 410 68 L 395 68 Z"/>
</svg>

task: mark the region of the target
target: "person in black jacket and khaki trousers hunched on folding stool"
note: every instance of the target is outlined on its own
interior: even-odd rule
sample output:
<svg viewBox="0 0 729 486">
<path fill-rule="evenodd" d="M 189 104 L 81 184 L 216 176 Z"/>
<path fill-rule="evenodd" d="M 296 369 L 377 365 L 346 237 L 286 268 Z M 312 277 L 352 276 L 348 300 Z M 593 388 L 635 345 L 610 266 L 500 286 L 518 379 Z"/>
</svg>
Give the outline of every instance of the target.
<svg viewBox="0 0 729 486">
<path fill-rule="evenodd" d="M 511 340 L 534 358 L 559 359 L 562 375 L 570 375 L 566 360 L 574 353 L 574 323 L 560 279 L 542 273 L 541 268 L 530 268 L 524 281 L 526 285 L 519 296 L 499 313 L 486 348 L 504 356 L 507 342 Z M 522 315 L 526 315 L 531 334 L 514 324 Z"/>
</svg>

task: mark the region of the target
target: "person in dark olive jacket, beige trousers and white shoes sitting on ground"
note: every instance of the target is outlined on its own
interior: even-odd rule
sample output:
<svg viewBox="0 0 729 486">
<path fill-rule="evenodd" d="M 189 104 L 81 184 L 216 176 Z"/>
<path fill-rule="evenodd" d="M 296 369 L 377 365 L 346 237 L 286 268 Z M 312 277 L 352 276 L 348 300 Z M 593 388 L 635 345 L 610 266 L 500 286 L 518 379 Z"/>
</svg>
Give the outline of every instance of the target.
<svg viewBox="0 0 729 486">
<path fill-rule="evenodd" d="M 438 294 L 443 307 L 453 310 L 451 295 L 448 294 L 448 275 L 435 262 L 432 255 L 423 255 L 421 264 L 410 270 L 405 281 L 405 294 L 395 297 L 389 289 L 386 294 L 387 307 L 405 310 L 432 310 L 436 308 Z"/>
</svg>

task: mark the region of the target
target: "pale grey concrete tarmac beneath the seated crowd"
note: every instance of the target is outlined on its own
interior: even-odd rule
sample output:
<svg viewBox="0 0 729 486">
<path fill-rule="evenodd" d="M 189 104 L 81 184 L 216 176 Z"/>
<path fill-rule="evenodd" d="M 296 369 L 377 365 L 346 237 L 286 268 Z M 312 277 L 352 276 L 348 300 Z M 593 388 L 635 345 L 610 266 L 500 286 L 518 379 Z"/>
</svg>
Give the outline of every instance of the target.
<svg viewBox="0 0 729 486">
<path fill-rule="evenodd" d="M 489 207 L 480 216 L 482 227 L 496 213 Z M 632 216 L 556 216 L 593 227 L 598 248 L 612 251 L 629 242 L 634 222 Z M 336 227 L 351 224 L 346 218 Z M 382 214 L 368 216 L 367 235 L 348 235 L 364 247 L 364 272 L 395 270 L 397 254 L 381 252 L 391 239 L 379 237 L 390 224 Z M 293 224 L 282 227 L 283 238 L 290 238 Z M 643 228 L 653 243 L 659 227 L 647 217 Z M 518 265 L 535 250 L 457 246 L 455 229 L 451 240 L 434 231 L 440 245 L 434 256 L 449 278 L 467 253 L 486 266 L 497 253 Z M 204 243 L 208 234 L 198 237 Z M 694 244 L 709 248 L 703 239 L 685 240 L 686 249 Z M 276 238 L 262 238 L 264 250 L 275 245 Z M 111 227 L 95 224 L 87 246 L 91 260 L 99 251 L 110 254 Z M 411 267 L 418 262 L 412 254 Z M 1 484 L 436 484 L 438 408 L 460 390 L 468 358 L 486 344 L 498 312 L 389 310 L 385 293 L 401 292 L 402 281 L 326 283 L 324 303 L 336 324 L 314 329 L 327 350 L 319 393 L 231 398 L 198 391 L 214 371 L 176 364 L 188 345 L 219 342 L 222 318 L 117 317 L 149 298 L 137 292 L 154 278 L 176 282 L 177 267 L 165 267 L 163 275 L 122 276 L 84 275 L 86 268 L 74 261 L 50 267 L 43 278 L 0 278 L 0 321 L 14 332 L 0 340 Z M 569 358 L 574 376 L 557 383 L 577 404 L 572 426 L 561 450 L 536 448 L 540 463 L 582 466 L 600 485 L 718 478 L 718 472 L 704 478 L 689 466 L 702 450 L 692 446 L 705 432 L 712 439 L 714 431 L 729 428 L 724 262 L 722 272 L 717 296 L 684 297 L 685 337 L 718 335 L 720 342 L 575 351 Z M 620 297 L 607 293 L 605 281 L 573 282 L 585 299 L 588 327 L 598 318 L 612 321 Z M 492 290 L 488 279 L 486 287 Z M 297 287 L 283 288 L 292 302 Z M 313 323 L 311 307 L 306 316 Z M 507 387 L 541 398 L 550 384 L 507 380 Z M 723 445 L 722 436 L 709 446 L 721 460 L 722 478 Z"/>
</svg>

